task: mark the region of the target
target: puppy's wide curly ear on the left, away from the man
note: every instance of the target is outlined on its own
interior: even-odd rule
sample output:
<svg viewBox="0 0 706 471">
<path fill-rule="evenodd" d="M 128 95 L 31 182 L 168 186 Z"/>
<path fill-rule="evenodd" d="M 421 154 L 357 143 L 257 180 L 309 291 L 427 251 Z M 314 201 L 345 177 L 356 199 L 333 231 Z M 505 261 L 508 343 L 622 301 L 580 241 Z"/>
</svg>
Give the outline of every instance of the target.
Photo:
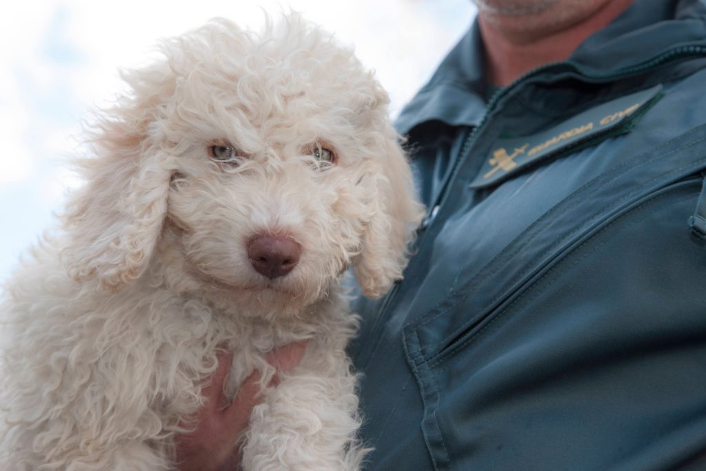
<svg viewBox="0 0 706 471">
<path fill-rule="evenodd" d="M 167 64 L 124 73 L 131 94 L 98 119 L 96 157 L 78 162 L 86 183 L 68 203 L 62 250 L 78 280 L 97 277 L 117 288 L 145 270 L 167 212 L 171 172 L 160 151 L 157 109 L 174 92 Z"/>
</svg>

